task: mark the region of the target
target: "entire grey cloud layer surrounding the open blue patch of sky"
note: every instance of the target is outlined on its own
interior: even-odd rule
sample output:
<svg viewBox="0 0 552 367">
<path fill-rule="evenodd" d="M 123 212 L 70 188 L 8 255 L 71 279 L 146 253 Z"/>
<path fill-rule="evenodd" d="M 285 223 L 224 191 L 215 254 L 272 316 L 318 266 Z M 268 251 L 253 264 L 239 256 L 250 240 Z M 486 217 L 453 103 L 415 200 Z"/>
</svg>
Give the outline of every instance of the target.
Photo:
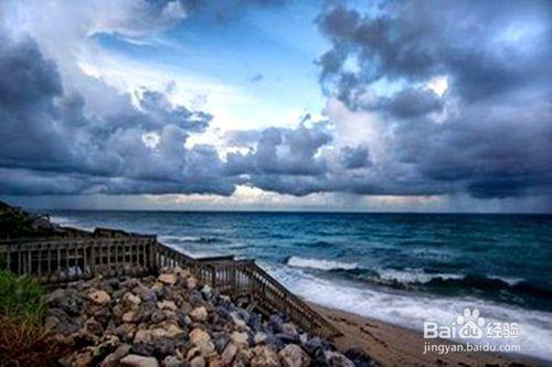
<svg viewBox="0 0 552 367">
<path fill-rule="evenodd" d="M 19 11 L 36 11 L 30 4 Z M 66 48 L 51 43 L 55 24 L 17 35 L 0 28 L 2 195 L 227 196 L 237 185 L 298 196 L 552 195 L 548 1 L 323 8 L 326 120 L 229 129 L 224 151 L 188 143 L 213 116 L 172 104 L 170 88 L 123 93 L 76 65 L 91 34 L 138 40 L 198 8 L 121 1 L 64 11 L 81 17 Z"/>
</svg>

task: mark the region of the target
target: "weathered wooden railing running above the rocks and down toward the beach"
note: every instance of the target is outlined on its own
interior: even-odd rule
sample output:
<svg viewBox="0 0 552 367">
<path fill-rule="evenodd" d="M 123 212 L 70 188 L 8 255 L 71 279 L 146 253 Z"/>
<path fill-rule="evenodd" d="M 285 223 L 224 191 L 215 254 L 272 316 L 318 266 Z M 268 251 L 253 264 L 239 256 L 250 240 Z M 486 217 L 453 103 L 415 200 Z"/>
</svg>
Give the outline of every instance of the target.
<svg viewBox="0 0 552 367">
<path fill-rule="evenodd" d="M 0 268 L 45 283 L 97 274 L 148 274 L 162 268 L 189 270 L 201 283 L 232 298 L 247 295 L 259 309 L 286 314 L 294 323 L 325 337 L 340 335 L 326 319 L 289 292 L 254 260 L 232 256 L 192 258 L 162 245 L 155 236 L 84 237 L 0 241 Z"/>
</svg>

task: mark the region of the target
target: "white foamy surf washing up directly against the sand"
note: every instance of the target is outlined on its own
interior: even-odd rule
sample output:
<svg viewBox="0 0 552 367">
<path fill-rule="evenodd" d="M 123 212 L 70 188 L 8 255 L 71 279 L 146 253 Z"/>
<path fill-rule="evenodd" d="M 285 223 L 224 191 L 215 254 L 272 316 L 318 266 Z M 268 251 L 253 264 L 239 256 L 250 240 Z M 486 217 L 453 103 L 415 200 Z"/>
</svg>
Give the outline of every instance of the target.
<svg viewBox="0 0 552 367">
<path fill-rule="evenodd" d="M 291 291 L 311 302 L 416 331 L 423 330 L 425 321 L 449 325 L 465 307 L 476 307 L 489 322 L 519 323 L 522 332 L 518 341 L 523 354 L 551 360 L 552 314 L 550 312 L 495 303 L 473 295 L 443 296 L 358 287 L 295 268 L 274 267 L 270 272 Z M 480 341 L 480 343 L 486 342 L 501 343 L 497 338 Z"/>
</svg>

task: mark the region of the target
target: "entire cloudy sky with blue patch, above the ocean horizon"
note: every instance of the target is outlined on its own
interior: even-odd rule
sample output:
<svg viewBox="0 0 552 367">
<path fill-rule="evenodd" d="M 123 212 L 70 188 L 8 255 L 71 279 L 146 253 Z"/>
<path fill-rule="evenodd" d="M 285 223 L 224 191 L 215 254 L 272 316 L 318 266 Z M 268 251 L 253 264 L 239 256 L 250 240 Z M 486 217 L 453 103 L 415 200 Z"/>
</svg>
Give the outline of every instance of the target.
<svg viewBox="0 0 552 367">
<path fill-rule="evenodd" d="M 6 0 L 0 199 L 552 212 L 552 2 Z"/>
</svg>

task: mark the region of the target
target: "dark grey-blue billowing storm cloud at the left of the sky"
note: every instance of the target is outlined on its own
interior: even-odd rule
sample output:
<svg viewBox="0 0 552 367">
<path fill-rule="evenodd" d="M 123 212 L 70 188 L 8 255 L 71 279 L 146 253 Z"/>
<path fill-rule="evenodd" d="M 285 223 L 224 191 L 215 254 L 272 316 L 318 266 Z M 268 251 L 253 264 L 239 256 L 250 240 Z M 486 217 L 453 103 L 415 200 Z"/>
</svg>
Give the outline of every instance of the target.
<svg viewBox="0 0 552 367">
<path fill-rule="evenodd" d="M 65 93 L 53 62 L 33 41 L 1 43 L 0 169 L 2 194 L 215 193 L 234 185 L 214 148 L 184 147 L 211 115 L 172 106 L 144 90 L 106 116 Z M 109 87 L 103 86 L 105 90 Z M 109 95 L 109 94 L 107 94 Z M 147 137 L 150 143 L 147 144 Z"/>
</svg>

